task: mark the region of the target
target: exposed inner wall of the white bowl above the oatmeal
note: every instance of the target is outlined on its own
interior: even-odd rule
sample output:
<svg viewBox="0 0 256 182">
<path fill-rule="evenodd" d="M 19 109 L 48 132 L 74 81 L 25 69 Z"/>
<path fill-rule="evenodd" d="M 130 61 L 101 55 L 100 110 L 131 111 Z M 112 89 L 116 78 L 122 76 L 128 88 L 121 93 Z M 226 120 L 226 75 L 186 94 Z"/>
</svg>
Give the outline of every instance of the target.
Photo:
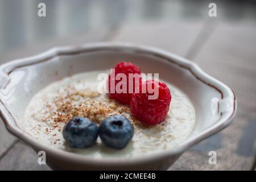
<svg viewBox="0 0 256 182">
<path fill-rule="evenodd" d="M 196 125 L 191 136 L 206 130 L 221 117 L 221 93 L 214 86 L 201 81 L 191 69 L 167 57 L 126 49 L 59 54 L 36 64 L 16 68 L 9 73 L 9 84 L 0 90 L 0 97 L 13 118 L 18 121 L 24 117 L 31 98 L 51 82 L 81 72 L 110 69 L 119 61 L 131 61 L 139 65 L 144 73 L 159 73 L 160 79 L 170 82 L 187 94 L 196 111 Z"/>
</svg>

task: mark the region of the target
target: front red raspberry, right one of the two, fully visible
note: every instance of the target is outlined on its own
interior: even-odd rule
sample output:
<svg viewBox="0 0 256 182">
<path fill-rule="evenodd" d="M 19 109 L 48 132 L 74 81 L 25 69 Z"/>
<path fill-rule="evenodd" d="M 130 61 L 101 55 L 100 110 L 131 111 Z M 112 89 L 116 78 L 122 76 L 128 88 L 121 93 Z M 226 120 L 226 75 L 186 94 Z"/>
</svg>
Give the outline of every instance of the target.
<svg viewBox="0 0 256 182">
<path fill-rule="evenodd" d="M 155 86 L 158 87 L 158 98 L 154 100 L 148 99 L 148 96 L 154 95 L 152 92 L 148 93 L 148 84 L 152 84 L 152 87 L 149 87 L 152 89 L 154 89 Z M 143 86 L 145 86 L 144 88 L 147 88 L 146 93 L 142 93 L 141 91 Z M 131 96 L 131 114 L 141 122 L 156 125 L 166 118 L 170 102 L 171 92 L 166 84 L 154 80 L 147 80 L 140 84 L 140 92 L 133 93 Z"/>
</svg>

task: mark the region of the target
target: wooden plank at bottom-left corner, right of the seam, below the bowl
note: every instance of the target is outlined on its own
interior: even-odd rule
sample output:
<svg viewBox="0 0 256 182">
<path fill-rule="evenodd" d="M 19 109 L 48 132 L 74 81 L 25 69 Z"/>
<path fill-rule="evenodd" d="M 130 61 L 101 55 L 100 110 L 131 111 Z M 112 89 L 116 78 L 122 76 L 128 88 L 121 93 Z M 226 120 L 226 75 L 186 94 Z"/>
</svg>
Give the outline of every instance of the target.
<svg viewBox="0 0 256 182">
<path fill-rule="evenodd" d="M 36 152 L 23 142 L 18 142 L 0 161 L 0 170 L 51 170 L 38 164 Z"/>
</svg>

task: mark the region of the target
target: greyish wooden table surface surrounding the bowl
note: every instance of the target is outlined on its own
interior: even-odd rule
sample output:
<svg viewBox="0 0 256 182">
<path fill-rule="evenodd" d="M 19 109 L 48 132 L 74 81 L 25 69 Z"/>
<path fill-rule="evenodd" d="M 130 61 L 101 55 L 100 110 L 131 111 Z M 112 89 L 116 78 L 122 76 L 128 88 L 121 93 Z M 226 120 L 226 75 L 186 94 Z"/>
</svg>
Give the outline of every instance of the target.
<svg viewBox="0 0 256 182">
<path fill-rule="evenodd" d="M 102 36 L 105 41 L 147 44 L 187 57 L 234 90 L 238 110 L 226 129 L 189 148 L 170 170 L 254 170 L 256 154 L 256 24 L 207 19 L 183 22 L 130 24 Z M 98 35 L 96 35 L 98 36 Z M 54 40 L 0 55 L 3 62 L 44 51 L 56 45 L 82 44 L 79 39 Z M 210 165 L 209 151 L 217 152 Z M 38 164 L 26 143 L 5 129 L 0 121 L 0 170 L 51 170 Z"/>
</svg>

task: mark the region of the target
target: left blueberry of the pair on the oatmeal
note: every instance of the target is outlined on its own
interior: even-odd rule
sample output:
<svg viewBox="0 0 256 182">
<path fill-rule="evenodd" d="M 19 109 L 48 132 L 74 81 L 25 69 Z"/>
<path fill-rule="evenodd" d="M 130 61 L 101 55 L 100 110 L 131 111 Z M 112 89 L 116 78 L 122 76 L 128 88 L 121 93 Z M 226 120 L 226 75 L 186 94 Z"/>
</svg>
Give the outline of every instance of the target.
<svg viewBox="0 0 256 182">
<path fill-rule="evenodd" d="M 63 137 L 71 147 L 90 147 L 98 137 L 98 126 L 88 118 L 72 118 L 64 126 Z"/>
</svg>

